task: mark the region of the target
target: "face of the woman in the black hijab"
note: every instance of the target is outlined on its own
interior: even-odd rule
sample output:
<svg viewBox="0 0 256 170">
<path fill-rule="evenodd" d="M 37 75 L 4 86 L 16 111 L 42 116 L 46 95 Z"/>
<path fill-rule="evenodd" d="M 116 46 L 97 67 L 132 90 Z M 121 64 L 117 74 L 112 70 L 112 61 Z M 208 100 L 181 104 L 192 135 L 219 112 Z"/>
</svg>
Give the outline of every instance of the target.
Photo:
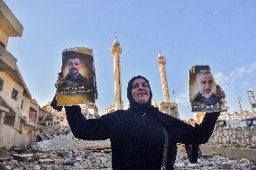
<svg viewBox="0 0 256 170">
<path fill-rule="evenodd" d="M 137 78 L 132 85 L 132 96 L 136 103 L 148 103 L 150 100 L 150 88 L 143 78 Z"/>
</svg>

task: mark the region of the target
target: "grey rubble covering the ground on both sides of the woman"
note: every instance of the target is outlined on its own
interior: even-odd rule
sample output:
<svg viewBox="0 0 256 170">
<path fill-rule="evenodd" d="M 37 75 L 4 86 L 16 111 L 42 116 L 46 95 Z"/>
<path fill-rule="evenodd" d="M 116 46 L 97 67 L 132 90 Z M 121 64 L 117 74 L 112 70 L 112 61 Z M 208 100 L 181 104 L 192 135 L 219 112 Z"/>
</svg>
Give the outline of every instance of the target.
<svg viewBox="0 0 256 170">
<path fill-rule="evenodd" d="M 60 132 L 59 132 L 60 131 Z M 69 129 L 42 133 L 41 142 L 31 148 L 2 148 L 0 170 L 2 169 L 102 169 L 110 170 L 110 141 L 87 141 L 75 139 Z M 150 161 L 150 160 L 149 160 Z M 178 151 L 175 169 L 256 169 L 247 159 L 231 159 L 217 155 L 203 155 L 198 164 L 189 164 L 187 153 Z"/>
</svg>

